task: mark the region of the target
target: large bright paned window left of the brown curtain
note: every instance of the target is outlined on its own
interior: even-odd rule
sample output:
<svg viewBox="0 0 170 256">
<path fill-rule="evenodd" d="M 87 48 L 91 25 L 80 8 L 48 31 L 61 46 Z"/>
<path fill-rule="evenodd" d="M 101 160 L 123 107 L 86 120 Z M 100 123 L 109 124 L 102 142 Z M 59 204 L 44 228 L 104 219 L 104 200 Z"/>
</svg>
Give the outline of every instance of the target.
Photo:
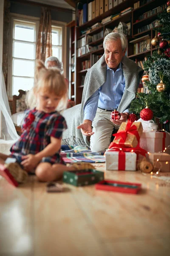
<svg viewBox="0 0 170 256">
<path fill-rule="evenodd" d="M 14 19 L 12 34 L 12 95 L 18 95 L 18 90 L 30 90 L 34 84 L 36 22 Z"/>
</svg>

